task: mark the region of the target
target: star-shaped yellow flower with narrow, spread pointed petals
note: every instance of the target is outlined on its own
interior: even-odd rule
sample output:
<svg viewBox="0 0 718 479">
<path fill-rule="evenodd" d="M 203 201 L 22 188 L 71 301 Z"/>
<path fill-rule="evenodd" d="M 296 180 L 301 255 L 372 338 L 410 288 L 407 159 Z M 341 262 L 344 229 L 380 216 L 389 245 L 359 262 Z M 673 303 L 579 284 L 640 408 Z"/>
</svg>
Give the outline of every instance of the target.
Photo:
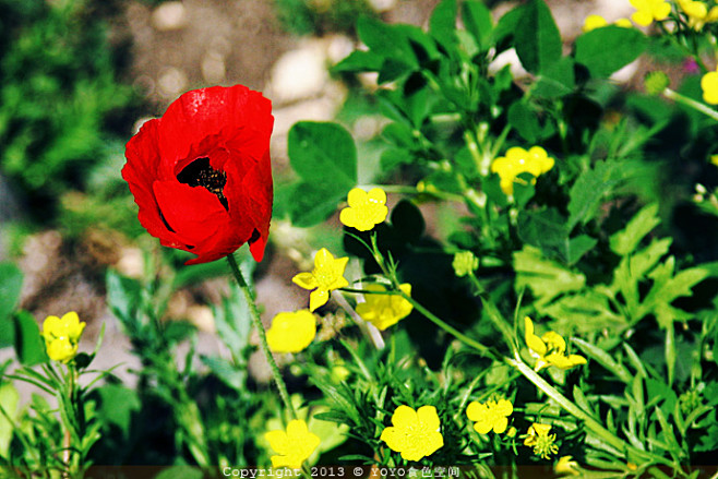
<svg viewBox="0 0 718 479">
<path fill-rule="evenodd" d="M 326 304 L 330 291 L 349 286 L 344 277 L 348 258 L 334 259 L 326 248 L 322 248 L 314 255 L 314 270 L 311 273 L 299 273 L 291 278 L 300 288 L 313 289 L 309 295 L 309 310 Z"/>
</svg>

